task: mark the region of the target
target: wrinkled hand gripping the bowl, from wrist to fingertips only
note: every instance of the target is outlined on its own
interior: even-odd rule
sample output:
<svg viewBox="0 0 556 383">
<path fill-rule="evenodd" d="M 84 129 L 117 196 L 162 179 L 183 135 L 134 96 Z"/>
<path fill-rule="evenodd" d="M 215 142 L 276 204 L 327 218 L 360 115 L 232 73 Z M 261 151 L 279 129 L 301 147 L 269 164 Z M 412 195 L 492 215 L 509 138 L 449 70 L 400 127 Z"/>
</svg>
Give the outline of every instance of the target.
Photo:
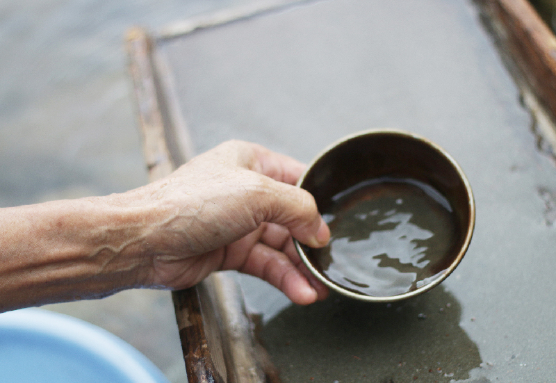
<svg viewBox="0 0 556 383">
<path fill-rule="evenodd" d="M 292 240 L 321 247 L 330 236 L 313 197 L 293 186 L 303 170 L 260 145 L 231 141 L 145 186 L 156 204 L 145 285 L 186 288 L 214 270 L 238 270 L 297 304 L 324 299 L 327 288 Z"/>
</svg>

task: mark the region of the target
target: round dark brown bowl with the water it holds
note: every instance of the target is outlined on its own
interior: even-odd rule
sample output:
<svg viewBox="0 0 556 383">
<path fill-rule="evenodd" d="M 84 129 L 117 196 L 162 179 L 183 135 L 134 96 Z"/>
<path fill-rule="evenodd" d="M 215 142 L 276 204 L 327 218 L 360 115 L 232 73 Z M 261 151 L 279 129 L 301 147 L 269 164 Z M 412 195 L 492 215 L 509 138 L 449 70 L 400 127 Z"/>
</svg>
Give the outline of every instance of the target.
<svg viewBox="0 0 556 383">
<path fill-rule="evenodd" d="M 413 133 L 363 131 L 319 154 L 298 186 L 316 199 L 332 240 L 295 241 L 324 284 L 369 302 L 413 297 L 440 284 L 471 242 L 471 186 L 444 149 Z"/>
</svg>

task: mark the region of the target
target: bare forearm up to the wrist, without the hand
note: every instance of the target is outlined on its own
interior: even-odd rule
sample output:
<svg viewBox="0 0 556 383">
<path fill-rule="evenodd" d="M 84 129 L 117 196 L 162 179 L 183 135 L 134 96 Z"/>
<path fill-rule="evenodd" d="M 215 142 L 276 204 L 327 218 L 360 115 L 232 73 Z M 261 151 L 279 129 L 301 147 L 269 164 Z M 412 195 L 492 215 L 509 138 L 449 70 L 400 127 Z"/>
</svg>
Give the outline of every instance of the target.
<svg viewBox="0 0 556 383">
<path fill-rule="evenodd" d="M 99 298 L 149 267 L 145 204 L 124 195 L 0 209 L 0 311 Z"/>
</svg>

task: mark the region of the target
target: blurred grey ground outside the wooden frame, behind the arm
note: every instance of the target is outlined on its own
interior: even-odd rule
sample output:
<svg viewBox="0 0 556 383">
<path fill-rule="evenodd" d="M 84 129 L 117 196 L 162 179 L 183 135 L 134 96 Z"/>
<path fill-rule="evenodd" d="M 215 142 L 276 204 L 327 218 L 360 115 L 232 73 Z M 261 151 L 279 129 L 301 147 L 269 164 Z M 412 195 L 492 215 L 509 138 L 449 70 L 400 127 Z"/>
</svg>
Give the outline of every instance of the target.
<svg viewBox="0 0 556 383">
<path fill-rule="evenodd" d="M 147 182 L 124 35 L 250 0 L 0 2 L 0 207 Z M 170 293 L 126 291 L 48 309 L 88 320 L 186 381 Z"/>
</svg>

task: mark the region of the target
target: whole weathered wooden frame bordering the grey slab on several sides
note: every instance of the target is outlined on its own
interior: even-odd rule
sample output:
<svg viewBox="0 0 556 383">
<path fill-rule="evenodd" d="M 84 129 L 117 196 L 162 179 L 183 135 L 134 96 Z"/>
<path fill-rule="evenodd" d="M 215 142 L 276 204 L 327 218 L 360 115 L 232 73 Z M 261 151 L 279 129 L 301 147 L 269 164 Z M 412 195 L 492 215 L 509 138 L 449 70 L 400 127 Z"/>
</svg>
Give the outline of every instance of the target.
<svg viewBox="0 0 556 383">
<path fill-rule="evenodd" d="M 156 36 L 139 28 L 129 31 L 126 45 L 150 179 L 165 177 L 194 154 L 170 72 L 156 52 L 156 43 L 298 2 L 260 1 L 247 8 L 173 24 Z M 475 3 L 521 89 L 523 102 L 536 119 L 539 145 L 548 142 L 546 147 L 556 147 L 555 36 L 526 0 Z M 279 382 L 275 368 L 256 342 L 253 320 L 245 312 L 233 279 L 215 273 L 198 286 L 172 296 L 190 383 Z"/>
</svg>

